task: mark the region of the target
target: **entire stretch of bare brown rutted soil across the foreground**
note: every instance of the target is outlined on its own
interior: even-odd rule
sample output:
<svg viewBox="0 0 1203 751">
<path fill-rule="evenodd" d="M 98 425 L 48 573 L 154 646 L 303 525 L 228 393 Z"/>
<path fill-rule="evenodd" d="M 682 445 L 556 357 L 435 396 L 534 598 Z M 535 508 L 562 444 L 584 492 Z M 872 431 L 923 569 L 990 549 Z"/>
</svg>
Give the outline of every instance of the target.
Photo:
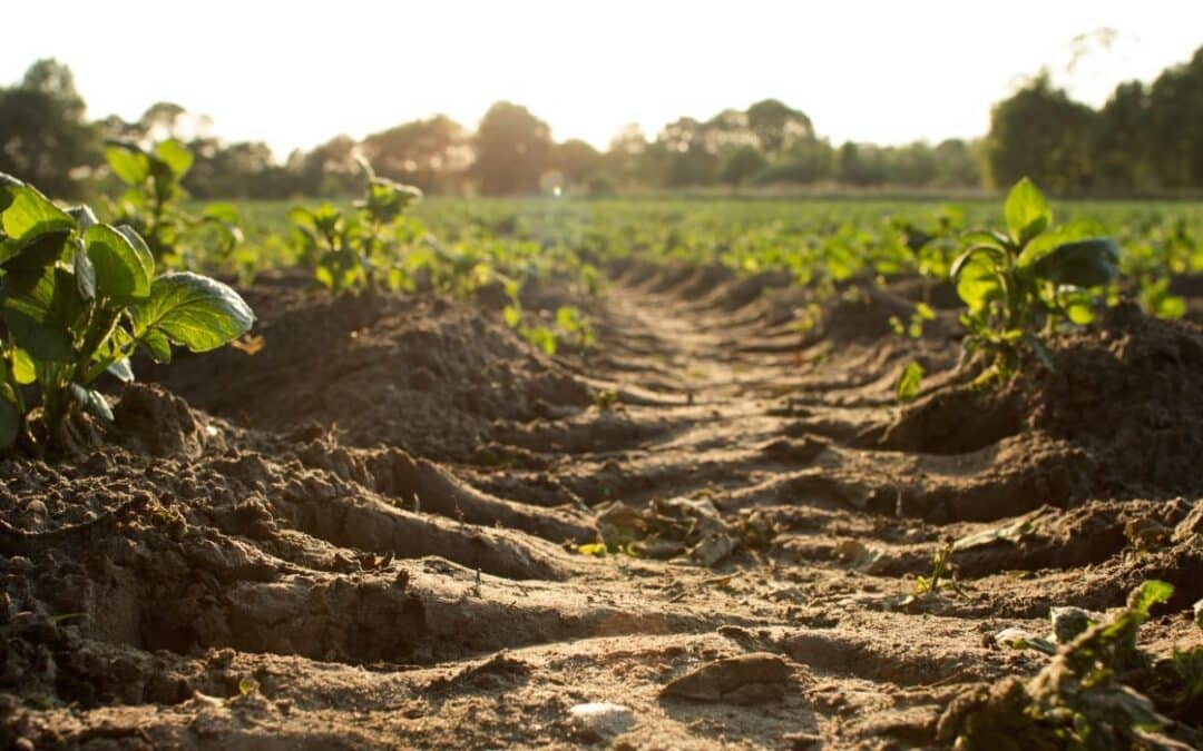
<svg viewBox="0 0 1203 751">
<path fill-rule="evenodd" d="M 1198 324 L 1121 305 L 984 394 L 943 288 L 846 285 L 801 327 L 772 275 L 612 272 L 598 346 L 555 358 L 485 302 L 268 276 L 261 348 L 0 463 L 0 743 L 940 746 L 1048 663 L 995 634 L 1053 607 L 1163 579 L 1140 646 L 1199 644 Z"/>
</svg>

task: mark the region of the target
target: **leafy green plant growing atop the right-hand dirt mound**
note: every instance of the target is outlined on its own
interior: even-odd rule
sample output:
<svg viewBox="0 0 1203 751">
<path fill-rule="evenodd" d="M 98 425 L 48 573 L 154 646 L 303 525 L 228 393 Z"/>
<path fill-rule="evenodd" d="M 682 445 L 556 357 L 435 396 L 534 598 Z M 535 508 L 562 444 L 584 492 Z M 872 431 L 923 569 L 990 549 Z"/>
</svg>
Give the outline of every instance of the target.
<svg viewBox="0 0 1203 751">
<path fill-rule="evenodd" d="M 1119 246 L 1089 237 L 1090 227 L 1053 230 L 1053 211 L 1026 178 L 1007 196 L 1007 232 L 973 231 L 949 272 L 968 310 L 966 347 L 980 352 L 989 376 L 1005 376 L 1027 347 L 1047 366 L 1051 358 L 1041 336 L 1059 323 L 1094 318 L 1098 290 L 1119 274 Z"/>
</svg>

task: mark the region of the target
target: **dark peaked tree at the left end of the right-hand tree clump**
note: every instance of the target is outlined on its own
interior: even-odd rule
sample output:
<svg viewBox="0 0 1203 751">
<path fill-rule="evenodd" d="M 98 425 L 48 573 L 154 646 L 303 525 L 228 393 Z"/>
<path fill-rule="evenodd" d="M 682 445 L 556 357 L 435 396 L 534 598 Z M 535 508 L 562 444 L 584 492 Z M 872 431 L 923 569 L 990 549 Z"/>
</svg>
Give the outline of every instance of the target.
<svg viewBox="0 0 1203 751">
<path fill-rule="evenodd" d="M 1089 187 L 1095 124 L 1095 111 L 1054 89 L 1042 72 L 990 112 L 985 151 L 991 184 L 1029 177 L 1053 191 Z"/>
</svg>

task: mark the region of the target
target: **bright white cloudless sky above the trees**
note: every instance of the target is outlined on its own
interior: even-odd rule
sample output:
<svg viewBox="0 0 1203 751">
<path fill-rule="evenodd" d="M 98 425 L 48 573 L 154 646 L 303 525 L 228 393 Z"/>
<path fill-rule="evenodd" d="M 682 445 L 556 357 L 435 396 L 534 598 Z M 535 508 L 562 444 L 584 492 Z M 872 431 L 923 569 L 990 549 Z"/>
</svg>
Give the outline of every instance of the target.
<svg viewBox="0 0 1203 751">
<path fill-rule="evenodd" d="M 505 99 L 605 148 L 776 97 L 835 143 L 938 142 L 1048 66 L 1102 103 L 1203 46 L 1198 0 L 42 0 L 8 2 L 0 84 L 53 56 L 88 114 L 173 101 L 278 156 Z M 11 30 L 20 29 L 19 34 Z M 1102 31 L 1102 30 L 1110 30 Z M 1091 43 L 1085 54 L 1075 37 Z M 1110 37 L 1110 43 L 1101 40 Z M 1077 59 L 1074 64 L 1071 65 Z"/>
</svg>

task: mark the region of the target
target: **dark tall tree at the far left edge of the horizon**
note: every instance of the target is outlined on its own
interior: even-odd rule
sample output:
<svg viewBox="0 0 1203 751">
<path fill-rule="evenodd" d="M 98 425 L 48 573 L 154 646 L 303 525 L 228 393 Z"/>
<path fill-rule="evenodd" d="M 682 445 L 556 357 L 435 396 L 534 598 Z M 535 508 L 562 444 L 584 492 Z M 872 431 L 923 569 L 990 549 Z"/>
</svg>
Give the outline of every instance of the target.
<svg viewBox="0 0 1203 751">
<path fill-rule="evenodd" d="M 71 68 L 38 60 L 20 84 L 0 89 L 0 172 L 52 196 L 79 197 L 78 172 L 99 163 L 96 129 Z"/>
</svg>

